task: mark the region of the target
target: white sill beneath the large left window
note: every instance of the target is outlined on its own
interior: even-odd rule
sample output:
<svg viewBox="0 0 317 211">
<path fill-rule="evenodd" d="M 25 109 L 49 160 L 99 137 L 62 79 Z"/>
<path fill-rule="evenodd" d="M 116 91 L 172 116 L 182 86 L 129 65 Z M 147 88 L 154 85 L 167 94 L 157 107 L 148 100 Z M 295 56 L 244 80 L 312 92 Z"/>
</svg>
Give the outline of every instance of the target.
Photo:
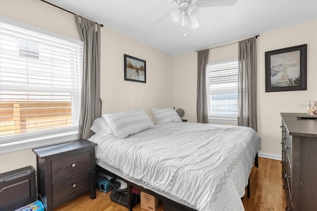
<svg viewBox="0 0 317 211">
<path fill-rule="evenodd" d="M 27 149 L 44 147 L 53 144 L 59 144 L 63 142 L 75 141 L 77 139 L 78 131 L 70 131 L 65 133 L 59 133 L 56 135 L 43 136 L 41 138 L 34 138 L 10 143 L 1 143 L 0 155 Z"/>
</svg>

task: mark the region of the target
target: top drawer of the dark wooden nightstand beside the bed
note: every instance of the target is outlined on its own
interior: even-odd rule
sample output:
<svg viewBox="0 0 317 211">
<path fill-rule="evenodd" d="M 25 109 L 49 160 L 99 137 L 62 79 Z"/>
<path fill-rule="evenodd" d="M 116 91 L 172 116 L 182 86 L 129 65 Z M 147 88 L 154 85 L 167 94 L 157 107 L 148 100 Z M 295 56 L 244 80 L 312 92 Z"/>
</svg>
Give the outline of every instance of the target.
<svg viewBox="0 0 317 211">
<path fill-rule="evenodd" d="M 90 152 L 52 161 L 52 181 L 62 179 L 91 167 Z"/>
</svg>

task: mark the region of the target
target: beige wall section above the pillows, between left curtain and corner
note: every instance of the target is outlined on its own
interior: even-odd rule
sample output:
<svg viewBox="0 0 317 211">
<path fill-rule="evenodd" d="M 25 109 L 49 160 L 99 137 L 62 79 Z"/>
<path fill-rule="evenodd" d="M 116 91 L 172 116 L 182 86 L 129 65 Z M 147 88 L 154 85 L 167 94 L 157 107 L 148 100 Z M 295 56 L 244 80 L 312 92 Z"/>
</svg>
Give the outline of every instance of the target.
<svg viewBox="0 0 317 211">
<path fill-rule="evenodd" d="M 113 30 L 103 31 L 101 45 L 101 98 L 103 113 L 145 107 L 173 107 L 173 58 Z M 146 60 L 146 82 L 124 81 L 128 54 Z"/>
</svg>

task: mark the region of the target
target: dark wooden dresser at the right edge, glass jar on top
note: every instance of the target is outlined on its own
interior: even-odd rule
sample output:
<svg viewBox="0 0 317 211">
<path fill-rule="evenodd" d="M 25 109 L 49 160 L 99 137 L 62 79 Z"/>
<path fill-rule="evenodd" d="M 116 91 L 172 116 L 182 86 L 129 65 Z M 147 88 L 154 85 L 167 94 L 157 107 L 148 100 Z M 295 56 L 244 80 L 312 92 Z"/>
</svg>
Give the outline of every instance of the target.
<svg viewBox="0 0 317 211">
<path fill-rule="evenodd" d="M 317 119 L 281 113 L 282 178 L 289 211 L 317 210 Z"/>
</svg>

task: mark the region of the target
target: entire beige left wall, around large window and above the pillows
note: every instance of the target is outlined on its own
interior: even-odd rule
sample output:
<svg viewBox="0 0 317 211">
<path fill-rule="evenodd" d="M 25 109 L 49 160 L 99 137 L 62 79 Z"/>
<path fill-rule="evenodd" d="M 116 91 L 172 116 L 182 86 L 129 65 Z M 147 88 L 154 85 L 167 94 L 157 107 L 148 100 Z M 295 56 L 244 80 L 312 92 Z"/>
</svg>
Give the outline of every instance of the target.
<svg viewBox="0 0 317 211">
<path fill-rule="evenodd" d="M 0 0 L 0 15 L 80 39 L 74 16 L 40 0 Z M 103 113 L 145 107 L 173 107 L 173 58 L 106 26 L 101 36 L 101 98 Z M 124 81 L 123 54 L 146 60 L 147 83 Z M 32 165 L 32 150 L 0 156 L 0 172 Z"/>
</svg>

